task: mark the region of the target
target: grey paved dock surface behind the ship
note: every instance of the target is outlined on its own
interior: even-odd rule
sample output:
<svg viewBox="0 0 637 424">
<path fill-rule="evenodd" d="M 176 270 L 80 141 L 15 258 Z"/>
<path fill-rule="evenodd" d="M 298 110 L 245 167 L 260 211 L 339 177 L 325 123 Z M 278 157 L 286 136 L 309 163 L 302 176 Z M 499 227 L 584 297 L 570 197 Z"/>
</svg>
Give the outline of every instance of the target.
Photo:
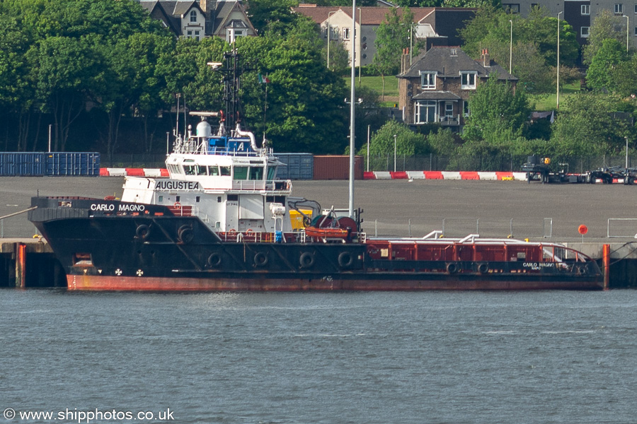
<svg viewBox="0 0 637 424">
<path fill-rule="evenodd" d="M 0 177 L 0 216 L 23 211 L 31 196 L 121 196 L 122 177 Z M 348 207 L 347 181 L 294 181 L 294 196 L 323 208 Z M 364 230 L 423 236 L 431 230 L 464 236 L 553 242 L 629 242 L 637 234 L 637 187 L 622 184 L 539 184 L 516 181 L 368 180 L 355 184 Z M 607 237 L 608 220 L 613 218 Z M 615 220 L 615 219 L 624 220 Z M 4 220 L 4 237 L 31 237 L 26 214 Z M 477 227 L 477 228 L 476 228 Z M 512 228 L 512 231 L 511 231 Z M 546 237 L 545 237 L 546 236 Z M 550 237 L 549 237 L 550 236 Z"/>
</svg>

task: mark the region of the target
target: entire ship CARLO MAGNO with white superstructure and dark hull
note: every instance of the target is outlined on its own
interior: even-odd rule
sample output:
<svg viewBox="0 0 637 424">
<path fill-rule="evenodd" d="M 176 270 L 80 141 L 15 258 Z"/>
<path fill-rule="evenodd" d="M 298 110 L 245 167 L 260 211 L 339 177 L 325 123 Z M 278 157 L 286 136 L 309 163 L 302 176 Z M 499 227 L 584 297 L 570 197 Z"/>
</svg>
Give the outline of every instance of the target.
<svg viewBox="0 0 637 424">
<path fill-rule="evenodd" d="M 120 199 L 35 196 L 28 219 L 69 290 L 596 290 L 597 262 L 550 242 L 371 237 L 362 211 L 322 208 L 277 179 L 265 137 L 241 127 L 236 52 L 225 110 L 200 119 L 166 158 L 168 177 L 126 177 Z M 214 119 L 214 128 L 210 120 Z"/>
</svg>

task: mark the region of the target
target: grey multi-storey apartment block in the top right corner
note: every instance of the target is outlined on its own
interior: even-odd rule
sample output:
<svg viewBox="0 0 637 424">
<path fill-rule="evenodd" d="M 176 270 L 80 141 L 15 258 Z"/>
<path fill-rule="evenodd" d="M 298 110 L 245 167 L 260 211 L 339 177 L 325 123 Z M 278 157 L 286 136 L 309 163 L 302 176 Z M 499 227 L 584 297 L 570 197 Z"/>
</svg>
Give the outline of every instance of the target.
<svg viewBox="0 0 637 424">
<path fill-rule="evenodd" d="M 505 3 L 507 1 L 507 3 Z M 543 7 L 549 11 L 549 16 L 566 20 L 575 30 L 580 45 L 585 45 L 590 35 L 590 27 L 595 18 L 603 10 L 610 11 L 617 17 L 617 25 L 626 31 L 626 41 L 637 47 L 637 3 L 622 3 L 623 0 L 504 0 L 502 6 L 511 13 L 528 16 L 532 7 Z M 633 10 L 630 7 L 633 6 Z"/>
</svg>

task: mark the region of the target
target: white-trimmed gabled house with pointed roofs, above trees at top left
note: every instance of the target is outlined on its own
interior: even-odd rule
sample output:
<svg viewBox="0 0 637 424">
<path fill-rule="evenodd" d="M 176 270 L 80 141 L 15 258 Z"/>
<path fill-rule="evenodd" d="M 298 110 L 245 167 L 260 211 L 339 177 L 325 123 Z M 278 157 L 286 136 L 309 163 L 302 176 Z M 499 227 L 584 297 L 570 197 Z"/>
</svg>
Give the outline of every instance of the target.
<svg viewBox="0 0 637 424">
<path fill-rule="evenodd" d="M 152 18 L 159 19 L 177 37 L 236 37 L 256 35 L 241 1 L 217 0 L 140 0 Z"/>
</svg>

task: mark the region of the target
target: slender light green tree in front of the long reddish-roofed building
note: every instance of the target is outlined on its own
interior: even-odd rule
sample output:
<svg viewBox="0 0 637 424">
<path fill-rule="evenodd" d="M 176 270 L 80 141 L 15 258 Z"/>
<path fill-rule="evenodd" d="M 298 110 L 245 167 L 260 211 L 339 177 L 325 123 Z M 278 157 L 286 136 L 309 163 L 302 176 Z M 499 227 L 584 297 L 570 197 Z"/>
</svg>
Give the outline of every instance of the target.
<svg viewBox="0 0 637 424">
<path fill-rule="evenodd" d="M 376 30 L 376 54 L 374 66 L 383 78 L 382 96 L 385 95 L 385 76 L 398 73 L 403 49 L 409 47 L 413 32 L 413 13 L 408 8 L 399 15 L 396 8 L 389 8 L 385 20 Z M 410 52 L 412 54 L 412 52 Z"/>
</svg>

